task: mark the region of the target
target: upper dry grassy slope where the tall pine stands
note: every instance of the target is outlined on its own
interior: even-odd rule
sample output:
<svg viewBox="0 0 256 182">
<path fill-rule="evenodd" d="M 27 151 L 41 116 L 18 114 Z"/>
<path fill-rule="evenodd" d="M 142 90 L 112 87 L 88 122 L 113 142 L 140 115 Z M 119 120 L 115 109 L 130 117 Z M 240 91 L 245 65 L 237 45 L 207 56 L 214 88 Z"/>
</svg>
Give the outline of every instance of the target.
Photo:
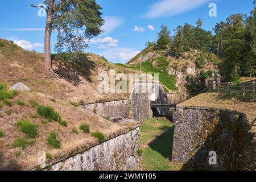
<svg viewBox="0 0 256 182">
<path fill-rule="evenodd" d="M 16 44 L 0 39 L 0 82 L 9 86 L 23 82 L 35 92 L 67 102 L 94 102 L 123 97 L 121 94 L 97 93 L 97 76 L 115 69 L 117 73 L 133 73 L 130 69 L 110 63 L 104 57 L 83 53 L 76 57 L 52 55 L 53 69 L 60 76 L 49 74 L 43 66 L 44 55 L 25 51 Z"/>
</svg>

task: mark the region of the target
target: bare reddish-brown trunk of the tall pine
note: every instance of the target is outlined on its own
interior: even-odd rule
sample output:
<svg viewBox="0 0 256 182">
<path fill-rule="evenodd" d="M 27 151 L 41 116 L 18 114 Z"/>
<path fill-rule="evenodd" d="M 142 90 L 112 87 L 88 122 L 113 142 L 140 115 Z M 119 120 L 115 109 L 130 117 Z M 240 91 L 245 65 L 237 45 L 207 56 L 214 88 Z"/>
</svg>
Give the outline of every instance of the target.
<svg viewBox="0 0 256 182">
<path fill-rule="evenodd" d="M 49 70 L 52 68 L 51 59 L 51 32 L 53 20 L 53 5 L 55 0 L 49 0 L 47 18 L 46 18 L 46 32 L 44 35 L 44 67 Z"/>
</svg>

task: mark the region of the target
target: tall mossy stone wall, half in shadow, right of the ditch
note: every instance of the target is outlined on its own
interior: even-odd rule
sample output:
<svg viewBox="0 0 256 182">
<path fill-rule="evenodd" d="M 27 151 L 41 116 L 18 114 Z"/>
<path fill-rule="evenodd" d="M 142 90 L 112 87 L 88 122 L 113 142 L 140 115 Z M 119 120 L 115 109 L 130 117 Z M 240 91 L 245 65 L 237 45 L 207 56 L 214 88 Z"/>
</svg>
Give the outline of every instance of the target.
<svg viewBox="0 0 256 182">
<path fill-rule="evenodd" d="M 205 170 L 243 169 L 253 135 L 246 115 L 236 111 L 182 107 L 174 111 L 172 160 Z M 217 164 L 209 164 L 216 151 Z M 254 160 L 254 159 L 252 159 Z M 255 160 L 254 160 L 255 161 Z"/>
</svg>

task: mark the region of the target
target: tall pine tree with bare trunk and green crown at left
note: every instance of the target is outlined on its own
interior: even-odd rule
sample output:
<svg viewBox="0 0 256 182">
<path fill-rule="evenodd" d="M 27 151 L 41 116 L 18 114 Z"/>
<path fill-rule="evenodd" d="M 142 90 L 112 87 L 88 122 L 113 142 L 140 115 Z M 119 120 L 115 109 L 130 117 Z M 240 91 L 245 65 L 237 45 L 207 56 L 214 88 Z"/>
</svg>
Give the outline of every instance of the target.
<svg viewBox="0 0 256 182">
<path fill-rule="evenodd" d="M 57 52 L 79 52 L 86 40 L 101 34 L 104 20 L 95 0 L 46 0 L 44 65 L 51 69 L 51 33 L 57 31 Z M 31 5 L 32 7 L 35 7 Z"/>
</svg>

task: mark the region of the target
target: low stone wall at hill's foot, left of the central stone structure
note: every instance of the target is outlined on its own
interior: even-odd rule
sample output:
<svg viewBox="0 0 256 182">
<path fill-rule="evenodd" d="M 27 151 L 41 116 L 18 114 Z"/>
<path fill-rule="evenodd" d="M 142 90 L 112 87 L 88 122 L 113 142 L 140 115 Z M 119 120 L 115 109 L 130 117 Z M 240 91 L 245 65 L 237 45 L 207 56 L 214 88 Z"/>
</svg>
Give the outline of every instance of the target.
<svg viewBox="0 0 256 182">
<path fill-rule="evenodd" d="M 130 101 L 125 100 L 115 100 L 107 102 L 97 102 L 92 104 L 80 105 L 80 109 L 90 111 L 99 117 L 125 117 L 127 118 L 130 112 Z"/>
</svg>

